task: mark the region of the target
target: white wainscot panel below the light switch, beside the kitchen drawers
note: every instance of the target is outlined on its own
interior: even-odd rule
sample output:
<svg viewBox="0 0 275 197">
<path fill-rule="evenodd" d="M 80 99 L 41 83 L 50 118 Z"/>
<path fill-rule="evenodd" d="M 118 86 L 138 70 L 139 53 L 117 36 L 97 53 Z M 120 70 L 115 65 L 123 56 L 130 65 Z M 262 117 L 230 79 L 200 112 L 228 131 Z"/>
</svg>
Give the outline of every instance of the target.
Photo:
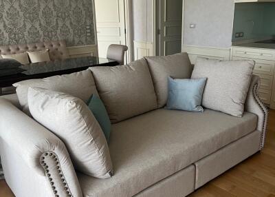
<svg viewBox="0 0 275 197">
<path fill-rule="evenodd" d="M 198 56 L 208 59 L 230 60 L 231 48 L 201 47 L 195 45 L 181 45 L 181 52 L 187 52 L 192 64 Z"/>
</svg>

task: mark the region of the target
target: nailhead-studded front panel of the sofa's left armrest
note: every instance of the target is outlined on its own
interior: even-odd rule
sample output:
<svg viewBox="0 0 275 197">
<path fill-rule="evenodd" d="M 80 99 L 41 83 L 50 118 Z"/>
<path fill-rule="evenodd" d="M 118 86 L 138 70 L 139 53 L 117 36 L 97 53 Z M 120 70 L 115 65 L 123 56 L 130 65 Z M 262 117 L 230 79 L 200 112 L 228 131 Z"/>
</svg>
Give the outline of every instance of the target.
<svg viewBox="0 0 275 197">
<path fill-rule="evenodd" d="M 44 152 L 40 157 L 40 164 L 44 169 L 45 176 L 49 180 L 49 183 L 54 195 L 56 197 L 60 197 L 60 196 L 72 197 L 72 192 L 69 190 L 69 187 L 67 185 L 67 181 L 62 172 L 58 156 L 54 152 L 50 152 L 50 151 Z M 58 191 L 58 188 L 56 188 L 56 183 L 54 183 L 54 181 L 58 183 L 62 183 L 63 191 Z"/>
</svg>

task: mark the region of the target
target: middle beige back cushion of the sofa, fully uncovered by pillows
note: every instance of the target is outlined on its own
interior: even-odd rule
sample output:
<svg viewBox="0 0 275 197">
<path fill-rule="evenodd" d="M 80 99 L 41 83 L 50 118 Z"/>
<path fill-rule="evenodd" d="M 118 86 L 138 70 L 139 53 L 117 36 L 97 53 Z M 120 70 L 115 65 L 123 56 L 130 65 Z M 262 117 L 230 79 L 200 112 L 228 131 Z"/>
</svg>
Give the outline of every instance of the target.
<svg viewBox="0 0 275 197">
<path fill-rule="evenodd" d="M 157 108 L 153 81 L 144 59 L 133 61 L 129 65 L 89 69 L 111 123 Z"/>
</svg>

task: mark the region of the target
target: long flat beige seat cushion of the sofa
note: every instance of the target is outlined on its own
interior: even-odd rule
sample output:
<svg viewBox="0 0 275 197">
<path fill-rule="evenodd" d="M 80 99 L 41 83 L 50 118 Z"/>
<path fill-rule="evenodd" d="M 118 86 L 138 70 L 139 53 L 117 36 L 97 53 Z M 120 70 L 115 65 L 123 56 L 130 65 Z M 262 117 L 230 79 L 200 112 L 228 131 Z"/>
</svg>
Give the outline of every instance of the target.
<svg viewBox="0 0 275 197">
<path fill-rule="evenodd" d="M 154 110 L 113 125 L 109 143 L 114 176 L 78 174 L 84 196 L 133 196 L 232 141 L 253 132 L 257 117 L 212 110 Z"/>
</svg>

